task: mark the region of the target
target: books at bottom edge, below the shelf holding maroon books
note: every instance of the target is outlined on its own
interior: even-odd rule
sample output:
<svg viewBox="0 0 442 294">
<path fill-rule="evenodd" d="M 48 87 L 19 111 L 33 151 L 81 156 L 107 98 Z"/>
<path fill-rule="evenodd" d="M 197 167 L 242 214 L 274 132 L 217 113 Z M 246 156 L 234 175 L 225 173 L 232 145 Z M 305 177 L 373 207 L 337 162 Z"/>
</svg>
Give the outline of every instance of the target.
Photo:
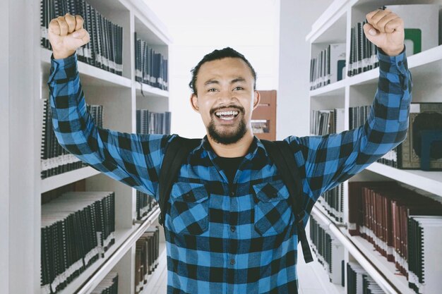
<svg viewBox="0 0 442 294">
<path fill-rule="evenodd" d="M 347 262 L 347 294 L 384 294 L 371 276 L 356 262 Z"/>
</svg>

